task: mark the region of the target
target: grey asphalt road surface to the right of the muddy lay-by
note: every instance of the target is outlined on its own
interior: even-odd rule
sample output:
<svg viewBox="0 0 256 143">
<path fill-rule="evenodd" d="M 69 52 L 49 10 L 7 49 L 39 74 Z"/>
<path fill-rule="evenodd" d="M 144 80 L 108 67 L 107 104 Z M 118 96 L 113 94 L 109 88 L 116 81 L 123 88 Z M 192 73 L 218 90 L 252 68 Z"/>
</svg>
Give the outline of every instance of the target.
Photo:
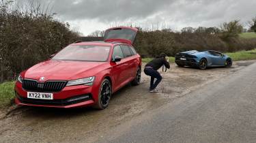
<svg viewBox="0 0 256 143">
<path fill-rule="evenodd" d="M 137 116 L 98 142 L 256 142 L 256 63 Z"/>
</svg>

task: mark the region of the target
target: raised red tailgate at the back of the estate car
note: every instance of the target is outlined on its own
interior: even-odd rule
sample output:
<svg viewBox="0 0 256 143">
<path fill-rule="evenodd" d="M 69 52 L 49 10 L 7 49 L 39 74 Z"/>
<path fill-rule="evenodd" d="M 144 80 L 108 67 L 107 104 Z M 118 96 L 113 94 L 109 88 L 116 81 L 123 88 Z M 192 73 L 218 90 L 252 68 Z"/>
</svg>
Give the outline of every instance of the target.
<svg viewBox="0 0 256 143">
<path fill-rule="evenodd" d="M 133 44 L 138 29 L 132 27 L 114 27 L 107 29 L 104 34 L 104 42 L 122 42 Z"/>
</svg>

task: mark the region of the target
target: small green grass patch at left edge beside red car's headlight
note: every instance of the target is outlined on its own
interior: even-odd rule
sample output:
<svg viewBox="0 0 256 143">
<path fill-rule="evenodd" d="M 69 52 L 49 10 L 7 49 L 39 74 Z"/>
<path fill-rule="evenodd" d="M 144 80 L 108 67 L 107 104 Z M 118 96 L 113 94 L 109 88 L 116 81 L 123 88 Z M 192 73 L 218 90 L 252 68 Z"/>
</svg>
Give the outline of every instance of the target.
<svg viewBox="0 0 256 143">
<path fill-rule="evenodd" d="M 0 84 L 0 107 L 4 108 L 12 104 L 14 99 L 15 82 L 4 82 Z"/>
</svg>

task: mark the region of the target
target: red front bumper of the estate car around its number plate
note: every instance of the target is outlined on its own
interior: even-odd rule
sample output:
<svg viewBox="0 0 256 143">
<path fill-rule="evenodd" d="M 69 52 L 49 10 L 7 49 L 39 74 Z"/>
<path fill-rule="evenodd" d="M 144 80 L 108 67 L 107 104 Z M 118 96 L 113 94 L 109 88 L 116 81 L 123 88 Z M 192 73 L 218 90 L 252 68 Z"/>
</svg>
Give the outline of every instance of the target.
<svg viewBox="0 0 256 143">
<path fill-rule="evenodd" d="M 51 108 L 92 106 L 96 103 L 93 95 L 98 96 L 98 93 L 93 92 L 95 90 L 92 89 L 92 86 L 85 85 L 66 86 L 62 91 L 53 93 L 53 100 L 30 99 L 27 98 L 27 91 L 22 88 L 22 84 L 20 82 L 16 82 L 15 103 L 23 106 L 41 106 Z"/>
</svg>

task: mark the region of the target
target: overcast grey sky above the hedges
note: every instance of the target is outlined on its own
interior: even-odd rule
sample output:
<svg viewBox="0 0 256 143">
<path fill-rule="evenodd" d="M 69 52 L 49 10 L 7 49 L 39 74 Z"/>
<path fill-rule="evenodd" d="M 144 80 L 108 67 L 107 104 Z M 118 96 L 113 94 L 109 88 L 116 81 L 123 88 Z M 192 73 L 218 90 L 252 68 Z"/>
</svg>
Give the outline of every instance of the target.
<svg viewBox="0 0 256 143">
<path fill-rule="evenodd" d="M 246 26 L 256 16 L 256 0 L 39 0 L 57 18 L 88 35 L 119 25 L 171 28 L 218 27 L 229 20 Z"/>
</svg>

